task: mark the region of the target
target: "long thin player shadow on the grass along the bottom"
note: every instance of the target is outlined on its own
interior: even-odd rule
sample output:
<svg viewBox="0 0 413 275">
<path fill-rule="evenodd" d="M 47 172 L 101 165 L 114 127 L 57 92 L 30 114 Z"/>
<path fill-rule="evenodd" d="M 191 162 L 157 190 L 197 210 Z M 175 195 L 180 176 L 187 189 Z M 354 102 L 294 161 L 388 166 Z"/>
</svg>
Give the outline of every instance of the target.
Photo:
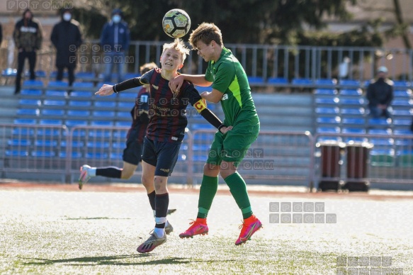
<svg viewBox="0 0 413 275">
<path fill-rule="evenodd" d="M 33 262 L 26 262 L 24 265 L 47 265 L 47 264 L 62 264 L 62 263 L 73 263 L 74 266 L 86 266 L 86 265 L 120 265 L 120 266 L 132 266 L 141 264 L 189 264 L 193 262 L 234 262 L 235 260 L 225 260 L 220 259 L 207 261 L 194 260 L 191 258 L 182 257 L 171 257 L 169 259 L 157 259 L 148 262 L 118 262 L 119 259 L 133 259 L 133 258 L 144 258 L 154 256 L 156 253 L 148 254 L 130 254 L 130 255 L 119 255 L 119 256 L 106 256 L 106 257 L 81 257 L 72 259 L 39 259 L 39 258 L 21 258 L 29 259 Z"/>
</svg>

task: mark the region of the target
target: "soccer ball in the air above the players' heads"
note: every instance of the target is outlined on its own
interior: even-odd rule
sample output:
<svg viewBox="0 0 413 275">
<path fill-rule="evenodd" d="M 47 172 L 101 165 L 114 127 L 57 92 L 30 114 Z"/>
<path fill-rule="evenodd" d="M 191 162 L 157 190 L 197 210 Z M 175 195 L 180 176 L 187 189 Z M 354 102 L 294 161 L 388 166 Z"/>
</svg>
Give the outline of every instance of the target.
<svg viewBox="0 0 413 275">
<path fill-rule="evenodd" d="M 171 38 L 181 38 L 191 28 L 191 18 L 181 9 L 171 9 L 162 19 L 162 28 Z"/>
</svg>

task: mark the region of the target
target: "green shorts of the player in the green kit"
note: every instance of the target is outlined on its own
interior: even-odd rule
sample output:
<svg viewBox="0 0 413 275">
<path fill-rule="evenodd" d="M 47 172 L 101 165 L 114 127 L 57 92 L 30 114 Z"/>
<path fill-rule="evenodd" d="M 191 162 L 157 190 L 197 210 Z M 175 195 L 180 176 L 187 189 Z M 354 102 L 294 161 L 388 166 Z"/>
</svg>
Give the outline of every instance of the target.
<svg viewBox="0 0 413 275">
<path fill-rule="evenodd" d="M 230 130 L 225 135 L 215 133 L 213 144 L 208 153 L 207 163 L 220 165 L 222 160 L 234 162 L 235 167 L 244 159 L 248 148 L 256 140 L 259 133 L 259 124 L 251 127 L 249 133 Z"/>
</svg>

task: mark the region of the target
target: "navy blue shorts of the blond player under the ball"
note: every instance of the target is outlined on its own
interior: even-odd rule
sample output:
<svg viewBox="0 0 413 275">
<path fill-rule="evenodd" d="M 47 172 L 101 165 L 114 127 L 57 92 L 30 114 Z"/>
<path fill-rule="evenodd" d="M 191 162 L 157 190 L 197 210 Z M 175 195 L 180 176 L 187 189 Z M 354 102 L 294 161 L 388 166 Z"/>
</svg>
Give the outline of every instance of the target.
<svg viewBox="0 0 413 275">
<path fill-rule="evenodd" d="M 145 137 L 142 160 L 156 167 L 155 176 L 171 176 L 179 156 L 181 142 L 159 142 Z"/>
</svg>

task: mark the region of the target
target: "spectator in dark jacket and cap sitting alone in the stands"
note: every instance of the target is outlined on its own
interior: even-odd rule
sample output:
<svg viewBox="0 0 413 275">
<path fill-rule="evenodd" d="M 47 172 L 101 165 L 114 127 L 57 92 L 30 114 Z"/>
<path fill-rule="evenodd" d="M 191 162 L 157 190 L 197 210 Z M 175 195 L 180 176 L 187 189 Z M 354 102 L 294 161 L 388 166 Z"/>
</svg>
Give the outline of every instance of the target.
<svg viewBox="0 0 413 275">
<path fill-rule="evenodd" d="M 393 99 L 393 82 L 387 79 L 387 68 L 382 66 L 377 70 L 377 80 L 367 87 L 368 108 L 373 118 L 390 118 L 390 103 Z"/>
</svg>

